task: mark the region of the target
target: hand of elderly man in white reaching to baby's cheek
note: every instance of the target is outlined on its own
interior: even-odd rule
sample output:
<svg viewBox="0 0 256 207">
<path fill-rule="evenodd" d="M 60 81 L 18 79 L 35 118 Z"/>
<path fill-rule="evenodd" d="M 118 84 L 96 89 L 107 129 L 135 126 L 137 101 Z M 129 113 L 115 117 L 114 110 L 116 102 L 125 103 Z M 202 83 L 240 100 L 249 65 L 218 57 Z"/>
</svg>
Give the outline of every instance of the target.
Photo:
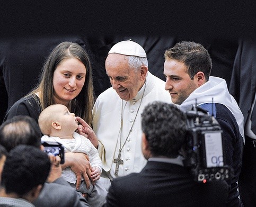
<svg viewBox="0 0 256 207">
<path fill-rule="evenodd" d="M 87 124 L 79 116 L 76 116 L 76 120 L 80 123 L 77 128 L 78 133 L 88 138 L 92 142 L 93 146 L 98 148 L 98 145 L 99 145 L 98 138 L 96 137 L 96 134 L 94 133 L 90 125 Z"/>
</svg>

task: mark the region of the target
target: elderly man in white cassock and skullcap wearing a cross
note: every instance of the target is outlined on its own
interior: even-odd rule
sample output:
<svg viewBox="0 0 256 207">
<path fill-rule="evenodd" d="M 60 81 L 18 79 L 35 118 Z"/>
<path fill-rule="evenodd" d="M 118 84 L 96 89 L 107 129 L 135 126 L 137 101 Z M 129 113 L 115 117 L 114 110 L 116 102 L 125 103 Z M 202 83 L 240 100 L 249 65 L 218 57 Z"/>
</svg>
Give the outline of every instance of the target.
<svg viewBox="0 0 256 207">
<path fill-rule="evenodd" d="M 146 164 L 141 150 L 141 113 L 153 101 L 171 102 L 165 82 L 148 71 L 145 50 L 127 40 L 115 44 L 105 61 L 112 85 L 93 107 L 93 130 L 99 139 L 103 173 L 108 178 L 140 172 Z"/>
</svg>

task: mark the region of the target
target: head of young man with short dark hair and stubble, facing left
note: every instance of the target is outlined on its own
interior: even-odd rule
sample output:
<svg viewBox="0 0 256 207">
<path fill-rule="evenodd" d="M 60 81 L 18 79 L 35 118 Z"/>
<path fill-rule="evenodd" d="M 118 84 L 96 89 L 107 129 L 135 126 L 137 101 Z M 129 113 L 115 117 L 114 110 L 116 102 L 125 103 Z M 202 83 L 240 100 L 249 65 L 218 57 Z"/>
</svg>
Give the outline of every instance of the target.
<svg viewBox="0 0 256 207">
<path fill-rule="evenodd" d="M 165 89 L 169 91 L 172 102 L 181 104 L 205 84 L 212 67 L 208 51 L 199 43 L 182 41 L 164 53 Z"/>
</svg>

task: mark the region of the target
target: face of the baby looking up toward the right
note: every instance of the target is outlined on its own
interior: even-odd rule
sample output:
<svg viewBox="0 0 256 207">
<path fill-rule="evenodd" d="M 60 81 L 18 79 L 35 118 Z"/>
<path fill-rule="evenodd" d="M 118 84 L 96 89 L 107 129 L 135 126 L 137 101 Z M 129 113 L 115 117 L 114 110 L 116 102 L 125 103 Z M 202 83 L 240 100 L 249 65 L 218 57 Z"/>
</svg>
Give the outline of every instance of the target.
<svg viewBox="0 0 256 207">
<path fill-rule="evenodd" d="M 58 121 L 60 122 L 61 128 L 69 128 L 75 131 L 78 127 L 76 116 L 74 113 L 70 113 L 66 106 L 58 105 Z"/>
</svg>

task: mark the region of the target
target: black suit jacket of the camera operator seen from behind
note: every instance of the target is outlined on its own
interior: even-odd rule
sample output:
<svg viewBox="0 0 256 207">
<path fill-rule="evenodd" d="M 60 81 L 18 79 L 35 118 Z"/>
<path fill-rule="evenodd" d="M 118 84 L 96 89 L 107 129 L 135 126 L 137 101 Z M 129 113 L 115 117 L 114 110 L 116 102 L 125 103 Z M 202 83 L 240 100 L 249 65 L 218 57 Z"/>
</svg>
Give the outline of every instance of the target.
<svg viewBox="0 0 256 207">
<path fill-rule="evenodd" d="M 199 184 L 180 165 L 148 161 L 113 180 L 104 206 L 225 206 L 227 196 L 225 181 Z"/>
</svg>

